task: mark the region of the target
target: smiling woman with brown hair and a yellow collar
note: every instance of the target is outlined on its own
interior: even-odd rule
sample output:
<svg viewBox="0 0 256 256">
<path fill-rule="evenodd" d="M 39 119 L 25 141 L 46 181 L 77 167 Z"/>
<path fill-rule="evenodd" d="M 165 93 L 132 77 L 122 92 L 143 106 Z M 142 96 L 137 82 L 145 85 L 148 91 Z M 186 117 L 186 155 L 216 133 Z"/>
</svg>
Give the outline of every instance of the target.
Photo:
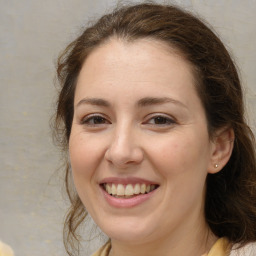
<svg viewBox="0 0 256 256">
<path fill-rule="evenodd" d="M 110 238 L 94 255 L 221 256 L 256 240 L 255 144 L 239 77 L 198 18 L 122 7 L 71 43 L 57 72 L 69 255 L 87 213 Z"/>
</svg>

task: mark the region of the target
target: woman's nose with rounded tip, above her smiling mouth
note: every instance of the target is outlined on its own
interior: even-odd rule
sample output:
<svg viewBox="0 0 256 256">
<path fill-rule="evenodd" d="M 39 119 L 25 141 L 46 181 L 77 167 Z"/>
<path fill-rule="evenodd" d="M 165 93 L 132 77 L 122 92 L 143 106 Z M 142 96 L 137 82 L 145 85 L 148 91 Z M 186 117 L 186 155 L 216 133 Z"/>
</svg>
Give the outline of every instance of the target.
<svg viewBox="0 0 256 256">
<path fill-rule="evenodd" d="M 131 165 L 140 164 L 143 157 L 143 150 L 135 132 L 127 128 L 119 128 L 113 132 L 111 142 L 105 152 L 108 162 L 117 168 L 125 169 Z"/>
</svg>

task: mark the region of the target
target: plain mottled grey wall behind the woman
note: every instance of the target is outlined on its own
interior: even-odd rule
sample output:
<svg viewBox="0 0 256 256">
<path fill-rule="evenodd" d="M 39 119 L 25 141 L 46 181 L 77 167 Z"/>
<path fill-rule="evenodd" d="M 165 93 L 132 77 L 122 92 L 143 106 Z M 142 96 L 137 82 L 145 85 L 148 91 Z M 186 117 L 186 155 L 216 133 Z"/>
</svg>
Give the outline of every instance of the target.
<svg viewBox="0 0 256 256">
<path fill-rule="evenodd" d="M 255 124 L 256 1 L 176 2 L 205 17 L 233 52 Z M 0 0 L 0 240 L 18 256 L 66 255 L 62 224 L 67 204 L 49 128 L 55 108 L 54 67 L 83 24 L 115 3 Z"/>
</svg>

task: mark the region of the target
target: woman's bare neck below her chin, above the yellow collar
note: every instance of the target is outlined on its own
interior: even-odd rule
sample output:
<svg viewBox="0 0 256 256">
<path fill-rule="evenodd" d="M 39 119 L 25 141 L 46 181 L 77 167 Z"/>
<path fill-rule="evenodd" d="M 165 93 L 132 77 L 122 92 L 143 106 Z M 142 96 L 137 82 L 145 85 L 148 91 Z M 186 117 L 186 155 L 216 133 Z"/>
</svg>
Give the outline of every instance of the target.
<svg viewBox="0 0 256 256">
<path fill-rule="evenodd" d="M 204 256 L 207 255 L 217 237 L 209 228 L 198 228 L 195 231 L 172 234 L 167 239 L 148 241 L 146 243 L 126 243 L 111 240 L 109 256 Z"/>
</svg>

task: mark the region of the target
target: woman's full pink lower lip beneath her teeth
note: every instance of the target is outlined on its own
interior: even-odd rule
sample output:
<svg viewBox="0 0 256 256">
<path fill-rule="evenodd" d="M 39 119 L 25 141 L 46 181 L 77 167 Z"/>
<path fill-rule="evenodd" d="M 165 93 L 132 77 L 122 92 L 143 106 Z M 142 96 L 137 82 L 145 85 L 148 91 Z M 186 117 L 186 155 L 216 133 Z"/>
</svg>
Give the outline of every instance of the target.
<svg viewBox="0 0 256 256">
<path fill-rule="evenodd" d="M 141 194 L 131 198 L 116 198 L 108 194 L 103 188 L 101 188 L 101 190 L 103 192 L 104 198 L 111 206 L 114 206 L 116 208 L 131 208 L 149 200 L 155 194 L 155 191 L 157 189 L 153 190 L 148 194 Z"/>
</svg>

